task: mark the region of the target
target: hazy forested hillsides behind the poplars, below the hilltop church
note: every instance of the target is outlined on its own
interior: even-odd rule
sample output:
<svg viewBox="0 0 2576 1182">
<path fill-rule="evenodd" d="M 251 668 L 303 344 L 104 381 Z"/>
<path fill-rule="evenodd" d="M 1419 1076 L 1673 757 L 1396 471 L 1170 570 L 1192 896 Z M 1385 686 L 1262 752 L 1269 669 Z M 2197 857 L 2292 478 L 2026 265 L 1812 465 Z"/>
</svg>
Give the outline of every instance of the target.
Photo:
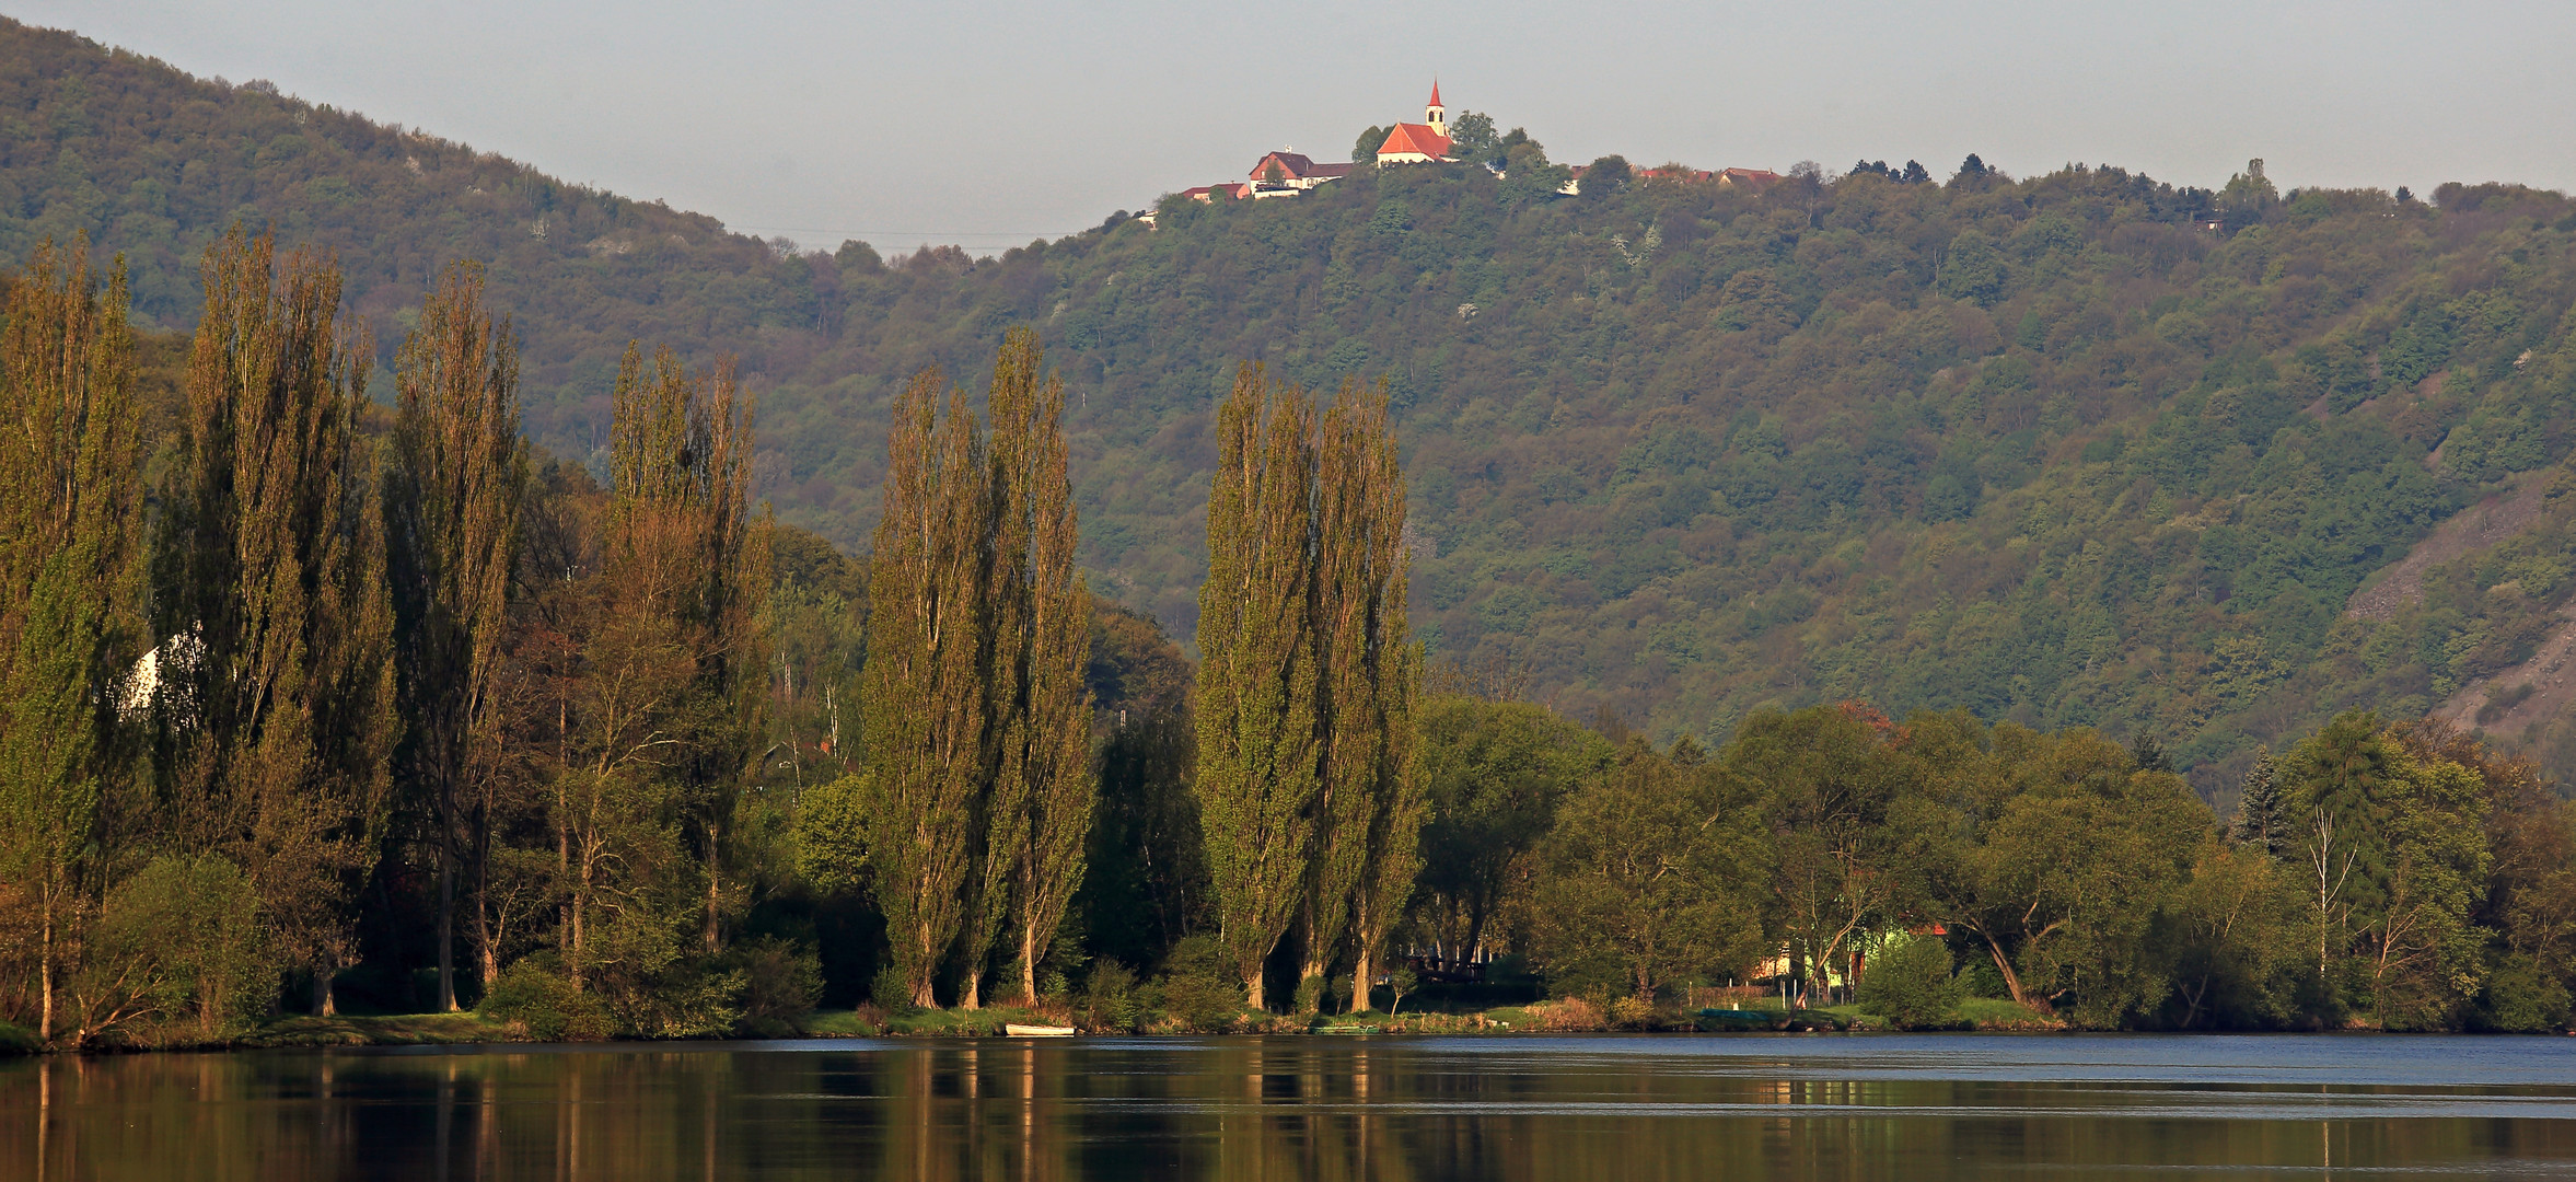
<svg viewBox="0 0 2576 1182">
<path fill-rule="evenodd" d="M 1419 636 L 1525 662 L 1571 716 L 1718 739 L 1759 706 L 1968 708 L 2164 736 L 2202 791 L 2354 703 L 2519 726 L 2483 695 L 2576 592 L 2558 193 L 2063 167 L 1556 198 L 1528 173 L 1363 170 L 981 263 L 796 255 L 0 26 L 0 255 L 88 232 L 126 252 L 139 317 L 185 327 L 198 250 L 273 221 L 337 252 L 381 348 L 435 268 L 487 260 L 541 443 L 600 451 L 629 337 L 737 353 L 760 494 L 840 546 L 873 525 L 896 384 L 979 384 L 1002 330 L 1038 324 L 1092 587 L 1175 636 L 1211 412 L 1262 358 L 1391 384 Z M 2437 523 L 2524 489 L 2501 536 L 2347 613 Z M 2504 736 L 2566 775 L 2563 713 Z"/>
</svg>

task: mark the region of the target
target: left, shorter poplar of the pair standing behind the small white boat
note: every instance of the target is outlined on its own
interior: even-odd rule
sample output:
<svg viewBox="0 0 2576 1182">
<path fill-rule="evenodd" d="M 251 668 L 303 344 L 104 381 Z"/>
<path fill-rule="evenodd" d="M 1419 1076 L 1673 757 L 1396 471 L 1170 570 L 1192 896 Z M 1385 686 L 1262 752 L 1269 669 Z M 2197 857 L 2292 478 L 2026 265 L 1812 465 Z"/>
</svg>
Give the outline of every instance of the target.
<svg viewBox="0 0 2576 1182">
<path fill-rule="evenodd" d="M 963 394 L 914 376 L 886 433 L 884 515 L 868 559 L 868 664 L 860 670 L 868 775 L 868 878 L 894 968 L 914 1004 L 969 912 L 974 809 L 984 778 L 984 448 Z M 976 883 L 981 888 L 981 883 Z"/>
</svg>

